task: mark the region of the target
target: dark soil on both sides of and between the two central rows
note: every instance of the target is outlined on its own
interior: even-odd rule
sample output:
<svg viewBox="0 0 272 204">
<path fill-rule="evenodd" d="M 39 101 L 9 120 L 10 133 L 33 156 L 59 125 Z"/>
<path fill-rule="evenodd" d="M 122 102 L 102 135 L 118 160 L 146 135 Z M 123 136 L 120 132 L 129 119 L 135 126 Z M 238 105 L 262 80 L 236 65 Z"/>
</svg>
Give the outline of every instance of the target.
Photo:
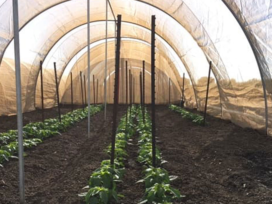
<svg viewBox="0 0 272 204">
<path fill-rule="evenodd" d="M 124 107 L 120 107 L 123 111 Z M 164 168 L 179 176 L 172 186 L 186 204 L 271 204 L 272 139 L 252 129 L 208 116 L 206 127 L 192 123 L 166 106 L 156 106 L 158 143 Z M 103 112 L 93 117 L 95 133 L 86 138 L 87 120 L 63 136 L 47 139 L 27 150 L 25 157 L 26 200 L 29 204 L 78 204 L 78 193 L 89 175 L 107 156 L 103 149 L 110 143 L 112 106 L 108 119 Z M 118 118 L 124 112 L 120 111 Z M 127 173 L 119 192 L 120 203 L 136 204 L 144 195 L 140 164 L 135 162 L 137 136 L 128 145 Z M 0 169 L 0 203 L 18 203 L 18 161 Z"/>
</svg>

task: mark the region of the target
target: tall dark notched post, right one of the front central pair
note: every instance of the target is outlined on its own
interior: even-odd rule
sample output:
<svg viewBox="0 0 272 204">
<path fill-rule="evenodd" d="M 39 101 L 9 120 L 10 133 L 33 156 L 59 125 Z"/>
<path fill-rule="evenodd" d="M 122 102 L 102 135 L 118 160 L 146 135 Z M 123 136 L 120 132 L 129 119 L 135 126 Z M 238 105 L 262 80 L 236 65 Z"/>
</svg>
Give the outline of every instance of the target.
<svg viewBox="0 0 272 204">
<path fill-rule="evenodd" d="M 152 165 L 156 167 L 156 128 L 155 128 L 155 15 L 151 22 L 151 121 L 152 121 Z"/>
</svg>

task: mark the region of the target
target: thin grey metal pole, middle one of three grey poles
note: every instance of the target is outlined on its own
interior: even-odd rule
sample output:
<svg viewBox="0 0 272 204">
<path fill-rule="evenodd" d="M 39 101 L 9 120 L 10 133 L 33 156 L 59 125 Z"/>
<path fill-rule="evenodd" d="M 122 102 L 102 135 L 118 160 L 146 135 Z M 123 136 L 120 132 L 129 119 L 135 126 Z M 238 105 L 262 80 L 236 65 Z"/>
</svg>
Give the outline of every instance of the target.
<svg viewBox="0 0 272 204">
<path fill-rule="evenodd" d="M 88 138 L 90 138 L 90 102 L 91 102 L 91 71 L 90 71 L 90 0 L 87 0 L 87 43 L 88 43 Z"/>
</svg>

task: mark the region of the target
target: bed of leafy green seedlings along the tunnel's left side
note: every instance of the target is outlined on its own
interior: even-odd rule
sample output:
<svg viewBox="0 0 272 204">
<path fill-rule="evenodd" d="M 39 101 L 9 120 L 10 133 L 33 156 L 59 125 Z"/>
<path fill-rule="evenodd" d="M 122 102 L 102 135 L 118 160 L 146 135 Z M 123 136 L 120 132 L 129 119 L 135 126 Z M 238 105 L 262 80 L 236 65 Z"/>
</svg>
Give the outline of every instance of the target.
<svg viewBox="0 0 272 204">
<path fill-rule="evenodd" d="M 90 115 L 102 110 L 102 105 L 91 106 Z M 30 148 L 42 143 L 45 138 L 53 135 L 61 135 L 67 128 L 83 120 L 88 116 L 88 108 L 77 109 L 73 112 L 61 115 L 61 122 L 58 118 L 46 119 L 44 122 L 29 123 L 23 127 L 23 146 Z M 9 130 L 0 133 L 0 165 L 4 161 L 15 157 L 18 152 L 18 131 Z M 2 165 L 1 165 L 2 166 Z"/>
</svg>

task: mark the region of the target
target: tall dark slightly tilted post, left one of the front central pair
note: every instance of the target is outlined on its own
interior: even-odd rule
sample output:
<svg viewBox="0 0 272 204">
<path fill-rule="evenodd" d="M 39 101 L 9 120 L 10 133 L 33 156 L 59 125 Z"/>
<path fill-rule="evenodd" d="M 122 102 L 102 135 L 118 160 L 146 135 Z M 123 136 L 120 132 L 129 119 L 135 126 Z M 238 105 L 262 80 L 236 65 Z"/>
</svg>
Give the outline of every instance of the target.
<svg viewBox="0 0 272 204">
<path fill-rule="evenodd" d="M 115 52 L 115 79 L 114 79 L 114 104 L 113 104 L 113 124 L 112 124 L 112 150 L 111 150 L 111 165 L 114 165 L 115 154 L 115 134 L 117 128 L 117 112 L 118 112 L 118 97 L 119 97 L 119 67 L 120 67 L 120 47 L 121 47 L 121 15 L 117 16 L 117 36 L 116 36 L 116 52 Z"/>
</svg>

